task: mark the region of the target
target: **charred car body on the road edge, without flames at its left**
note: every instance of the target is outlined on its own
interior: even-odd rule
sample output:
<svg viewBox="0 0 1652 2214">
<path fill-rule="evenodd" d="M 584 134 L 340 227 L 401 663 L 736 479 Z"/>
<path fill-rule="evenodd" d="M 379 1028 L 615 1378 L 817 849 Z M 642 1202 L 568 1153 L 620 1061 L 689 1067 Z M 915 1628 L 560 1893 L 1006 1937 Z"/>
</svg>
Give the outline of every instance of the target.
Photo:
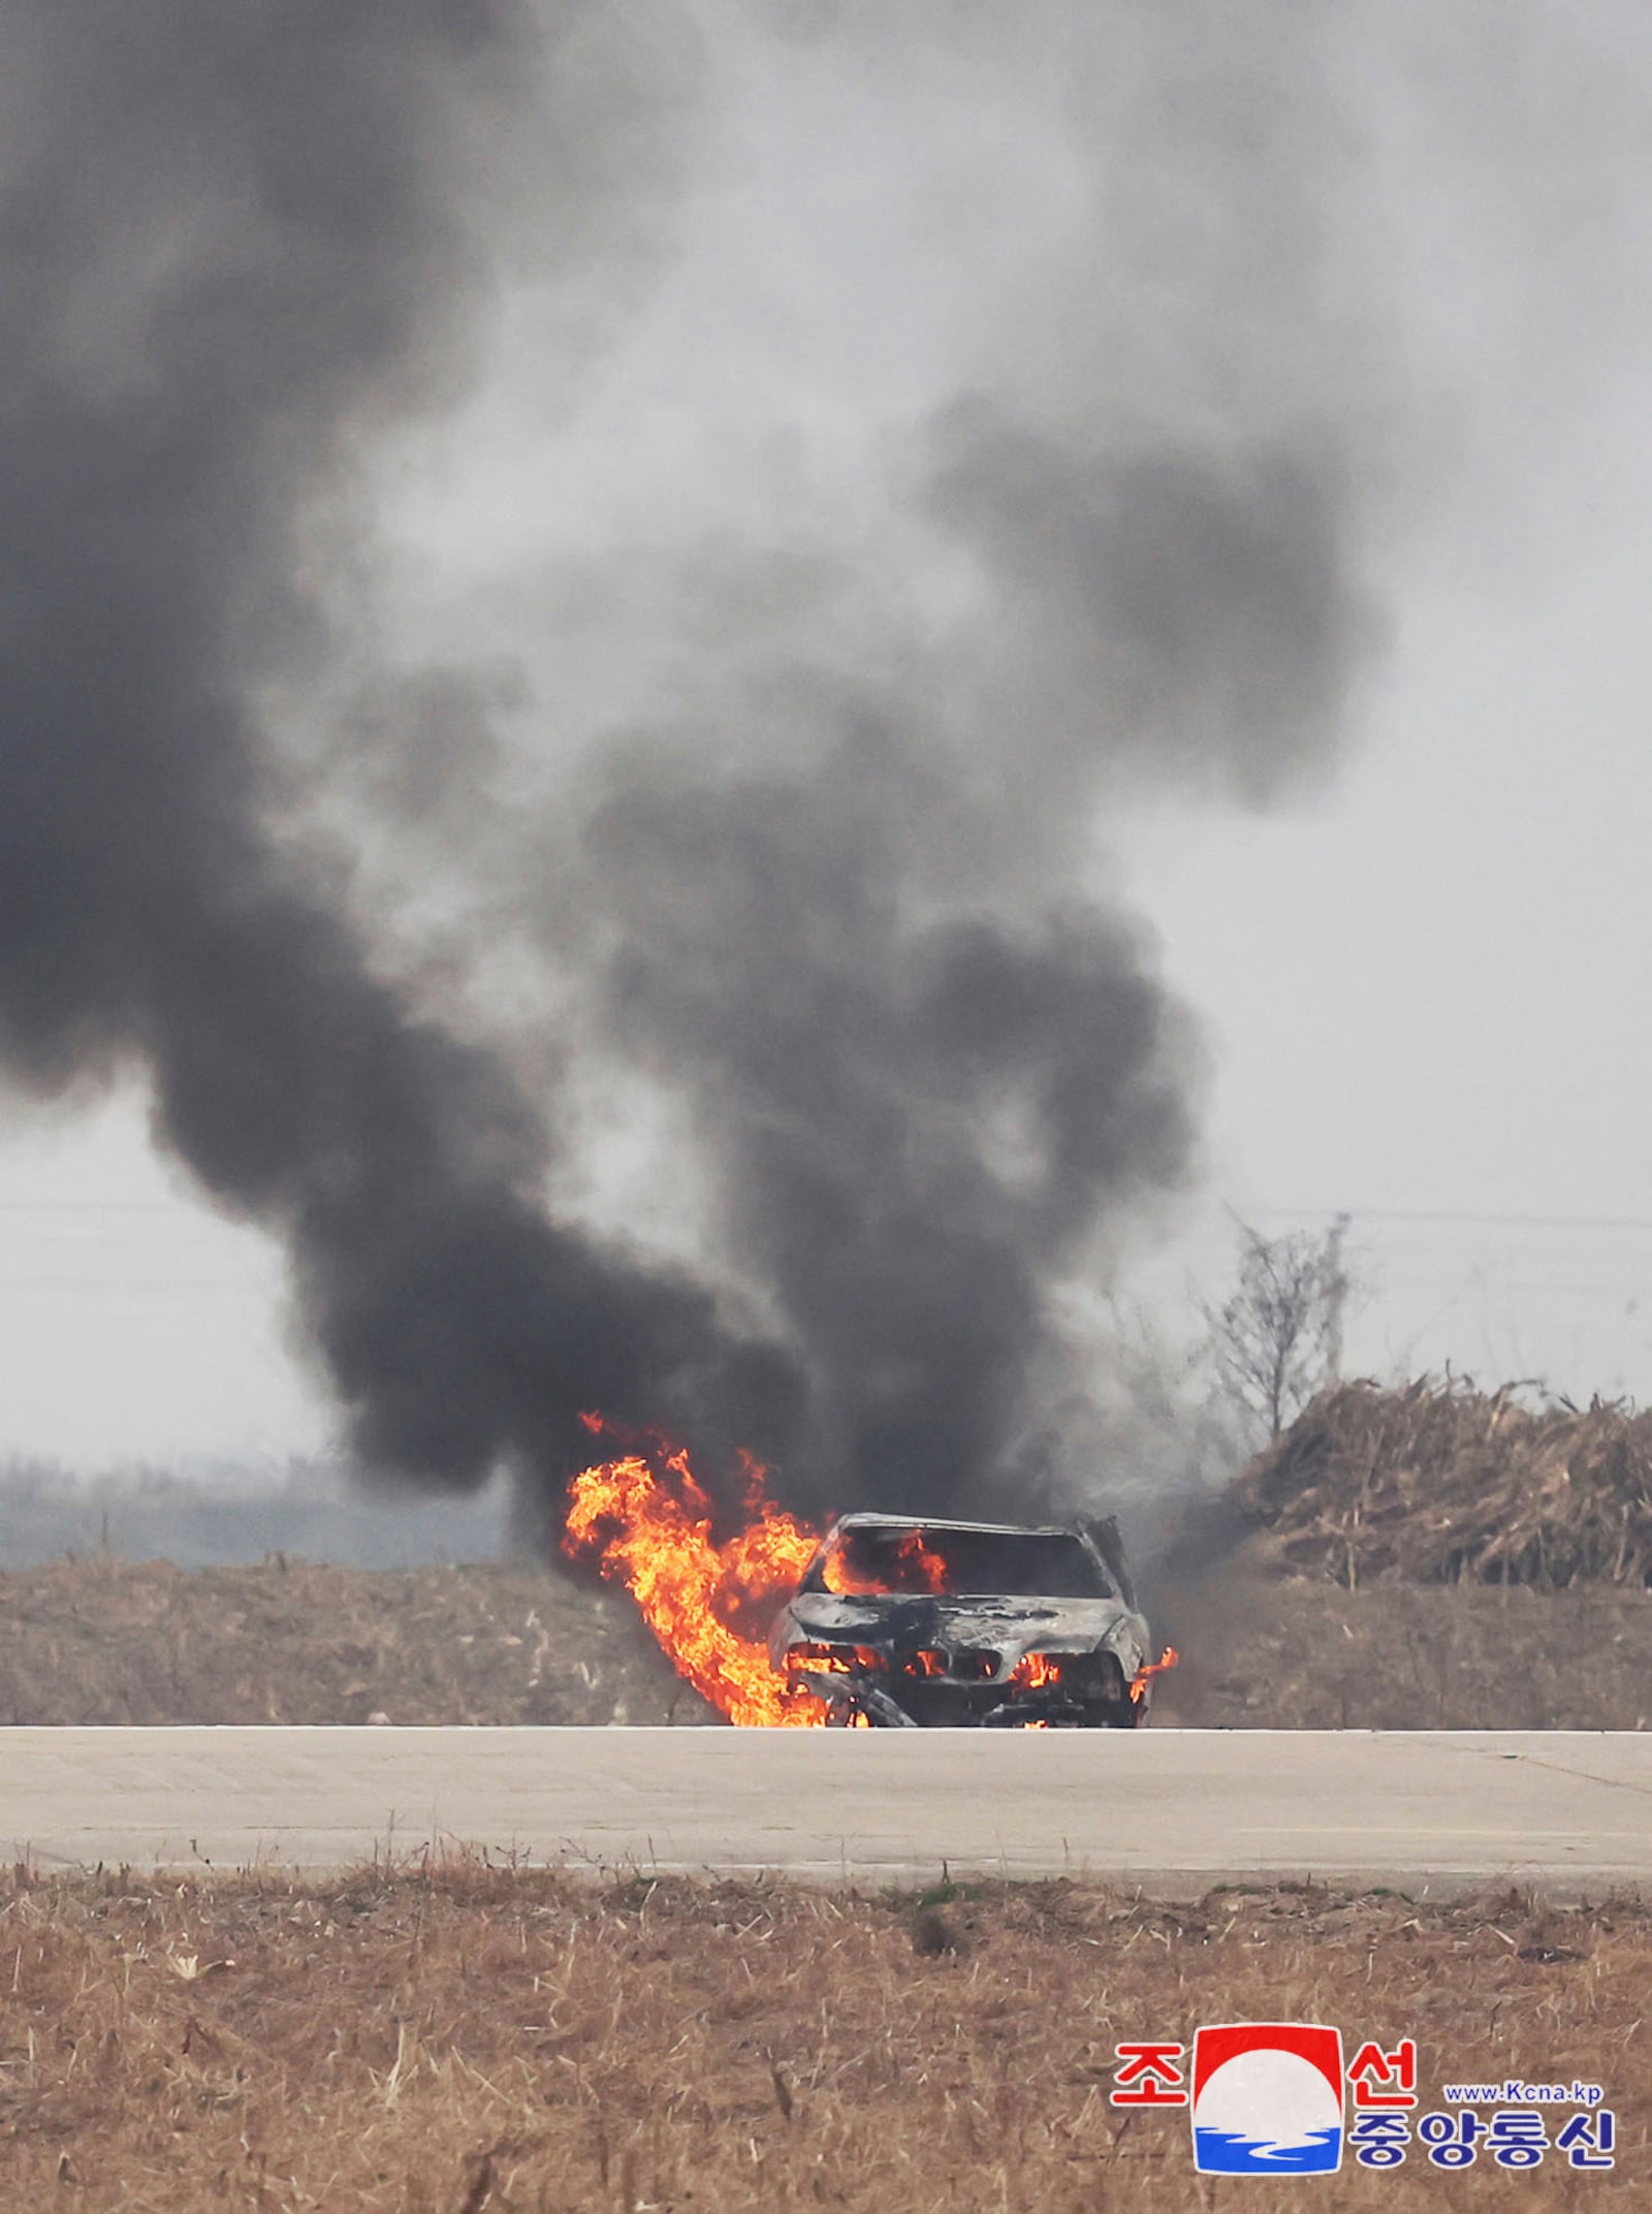
<svg viewBox="0 0 1652 2214">
<path fill-rule="evenodd" d="M 1065 1528 L 846 1514 L 768 1638 L 833 1722 L 1134 1729 L 1147 1623 L 1107 1519 Z"/>
</svg>

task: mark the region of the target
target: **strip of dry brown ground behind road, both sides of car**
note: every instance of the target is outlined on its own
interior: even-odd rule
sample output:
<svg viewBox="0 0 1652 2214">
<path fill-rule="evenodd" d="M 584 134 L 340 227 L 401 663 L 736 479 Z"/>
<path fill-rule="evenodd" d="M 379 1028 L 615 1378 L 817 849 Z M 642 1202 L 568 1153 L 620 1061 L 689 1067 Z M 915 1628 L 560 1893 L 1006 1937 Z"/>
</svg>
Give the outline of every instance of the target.
<svg viewBox="0 0 1652 2214">
<path fill-rule="evenodd" d="M 1156 1725 L 1645 1729 L 1652 1594 L 1278 1581 L 1242 1561 L 1149 1614 Z M 120 1559 L 0 1574 L 4 1722 L 704 1722 L 629 1601 L 527 1568 Z"/>
</svg>

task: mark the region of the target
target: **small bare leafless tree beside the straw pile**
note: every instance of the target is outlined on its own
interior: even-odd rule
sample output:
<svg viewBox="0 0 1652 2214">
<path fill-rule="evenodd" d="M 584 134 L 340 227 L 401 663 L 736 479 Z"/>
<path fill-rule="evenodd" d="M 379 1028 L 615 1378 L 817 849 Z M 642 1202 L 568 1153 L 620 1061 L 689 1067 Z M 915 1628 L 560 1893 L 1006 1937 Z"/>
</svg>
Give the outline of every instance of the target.
<svg viewBox="0 0 1652 2214">
<path fill-rule="evenodd" d="M 1324 1231 L 1262 1238 L 1240 1222 L 1240 1271 L 1222 1306 L 1205 1306 L 1211 1351 L 1231 1395 L 1267 1426 L 1293 1421 L 1342 1370 L 1349 1218 Z"/>
</svg>

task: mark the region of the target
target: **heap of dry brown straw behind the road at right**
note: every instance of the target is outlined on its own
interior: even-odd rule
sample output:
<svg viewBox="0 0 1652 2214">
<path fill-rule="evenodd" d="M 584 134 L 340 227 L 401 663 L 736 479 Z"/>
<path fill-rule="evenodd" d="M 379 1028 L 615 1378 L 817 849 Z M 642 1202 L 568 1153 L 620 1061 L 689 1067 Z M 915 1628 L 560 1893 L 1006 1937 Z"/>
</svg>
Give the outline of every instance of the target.
<svg viewBox="0 0 1652 2214">
<path fill-rule="evenodd" d="M 1349 1587 L 1652 1585 L 1652 1413 L 1462 1377 L 1340 1384 L 1233 1481 L 1280 1568 Z"/>
</svg>

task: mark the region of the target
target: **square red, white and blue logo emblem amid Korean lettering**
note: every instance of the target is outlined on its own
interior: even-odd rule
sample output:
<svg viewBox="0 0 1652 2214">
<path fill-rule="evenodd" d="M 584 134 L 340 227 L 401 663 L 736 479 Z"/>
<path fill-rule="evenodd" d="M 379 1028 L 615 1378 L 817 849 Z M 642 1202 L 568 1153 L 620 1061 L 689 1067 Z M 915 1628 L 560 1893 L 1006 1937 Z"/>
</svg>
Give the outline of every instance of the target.
<svg viewBox="0 0 1652 2214">
<path fill-rule="evenodd" d="M 1324 2176 L 1342 2165 L 1342 2032 L 1218 2021 L 1194 2032 L 1194 2165 L 1207 2176 Z"/>
</svg>

